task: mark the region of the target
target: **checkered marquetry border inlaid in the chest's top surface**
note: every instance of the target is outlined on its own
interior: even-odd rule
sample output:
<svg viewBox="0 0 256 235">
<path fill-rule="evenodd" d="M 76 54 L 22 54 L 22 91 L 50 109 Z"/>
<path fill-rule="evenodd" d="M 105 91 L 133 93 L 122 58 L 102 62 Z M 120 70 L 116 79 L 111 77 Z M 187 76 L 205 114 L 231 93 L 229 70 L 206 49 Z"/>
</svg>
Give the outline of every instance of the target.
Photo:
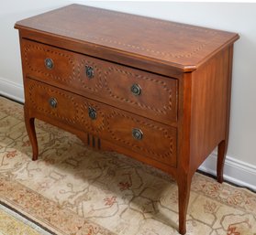
<svg viewBox="0 0 256 235">
<path fill-rule="evenodd" d="M 81 7 L 81 6 L 80 6 Z M 82 8 L 82 9 L 81 9 Z M 71 10 L 73 9 L 74 11 L 77 11 L 77 15 L 80 15 L 80 13 L 84 14 L 84 11 L 87 11 L 89 14 L 103 14 L 106 17 L 107 16 L 120 16 L 123 18 L 127 18 L 129 19 L 133 19 L 138 21 L 138 23 L 142 23 L 142 22 L 150 22 L 150 24 L 155 25 L 155 27 L 158 27 L 158 25 L 167 27 L 167 29 L 172 29 L 172 27 L 178 27 L 181 29 L 187 29 L 187 30 L 191 30 L 191 31 L 197 31 L 197 32 L 202 32 L 204 34 L 208 34 L 210 37 L 212 37 L 212 39 L 214 39 L 215 37 L 217 37 L 217 31 L 215 30 L 211 30 L 211 29 L 207 29 L 204 27 L 193 27 L 193 26 L 189 26 L 189 25 L 185 25 L 185 24 L 178 24 L 175 22 L 170 22 L 170 21 L 163 21 L 163 20 L 158 20 L 158 19 L 154 19 L 154 18 L 150 18 L 150 17 L 142 17 L 142 16 L 134 16 L 134 15 L 129 15 L 129 14 L 125 14 L 125 13 L 120 13 L 120 12 L 114 12 L 114 11 L 107 11 L 104 9 L 99 9 L 99 8 L 95 8 L 95 7 L 81 7 L 79 8 L 77 5 L 72 5 L 69 8 L 61 8 L 61 10 L 59 11 L 53 11 L 52 13 L 48 13 L 48 16 L 59 16 L 59 18 L 63 18 L 63 20 L 65 20 L 65 18 L 69 18 L 69 21 L 73 21 L 73 24 L 77 25 L 79 24 L 79 21 L 75 21 L 72 19 L 72 17 L 69 17 L 69 15 L 71 14 Z M 80 12 L 81 11 L 81 12 Z M 115 46 L 120 46 L 121 48 L 129 48 L 129 49 L 136 49 L 139 50 L 140 53 L 141 52 L 150 52 L 150 54 L 155 55 L 155 56 L 163 56 L 164 58 L 167 59 L 181 59 L 181 58 L 191 58 L 193 57 L 197 52 L 199 52 L 200 50 L 202 50 L 203 48 L 206 47 L 207 44 L 210 43 L 209 40 L 204 40 L 201 41 L 200 43 L 197 42 L 197 46 L 194 46 L 194 48 L 191 50 L 191 52 L 184 52 L 182 53 L 182 51 L 179 51 L 178 53 L 172 53 L 170 51 L 161 51 L 161 50 L 156 50 L 156 49 L 152 49 L 152 48 L 146 48 L 143 47 L 141 45 L 133 45 L 131 43 L 125 43 L 123 41 L 120 40 L 115 40 L 115 39 L 111 39 L 110 37 L 96 37 L 95 35 L 92 35 L 92 33 L 90 32 L 90 30 L 73 30 L 72 28 L 66 27 L 66 28 L 60 28 L 57 27 L 57 25 L 54 25 L 54 21 L 52 22 L 52 24 L 45 24 L 45 18 L 44 16 L 37 16 L 37 18 L 34 19 L 33 22 L 30 22 L 30 24 L 33 26 L 35 25 L 36 27 L 47 27 L 48 30 L 51 30 L 53 32 L 58 32 L 62 35 L 72 35 L 72 37 L 83 37 L 83 39 L 87 39 L 87 40 L 95 40 L 98 42 L 106 42 L 108 44 L 112 44 Z M 152 28 L 153 30 L 153 28 Z M 171 40 L 171 38 L 170 38 Z"/>
</svg>

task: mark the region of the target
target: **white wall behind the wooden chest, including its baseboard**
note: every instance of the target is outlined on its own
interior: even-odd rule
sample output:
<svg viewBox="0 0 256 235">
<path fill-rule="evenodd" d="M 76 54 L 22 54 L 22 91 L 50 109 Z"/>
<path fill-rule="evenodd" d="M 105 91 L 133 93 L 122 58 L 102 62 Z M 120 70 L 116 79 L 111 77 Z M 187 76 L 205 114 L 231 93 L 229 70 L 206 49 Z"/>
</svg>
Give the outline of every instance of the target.
<svg viewBox="0 0 256 235">
<path fill-rule="evenodd" d="M 240 39 L 234 49 L 234 69 L 230 120 L 230 139 L 226 175 L 232 180 L 242 166 L 250 171 L 243 183 L 256 181 L 256 4 L 242 3 L 174 3 L 174 2 L 88 2 L 68 0 L 9 0 L 0 6 L 0 92 L 22 100 L 22 77 L 15 22 L 52 8 L 70 3 L 94 5 L 107 9 L 152 16 L 203 27 L 238 32 Z M 239 162 L 241 161 L 241 162 Z M 228 165 L 227 164 L 227 165 Z M 215 167 L 211 160 L 205 170 Z M 238 166 L 238 168 L 234 168 Z M 229 167 L 229 168 L 228 168 Z M 252 175 L 251 175 L 252 174 Z M 243 176 L 237 176 L 238 181 Z M 248 181 L 248 182 L 246 182 Z M 256 182 L 254 186 L 256 188 Z"/>
</svg>

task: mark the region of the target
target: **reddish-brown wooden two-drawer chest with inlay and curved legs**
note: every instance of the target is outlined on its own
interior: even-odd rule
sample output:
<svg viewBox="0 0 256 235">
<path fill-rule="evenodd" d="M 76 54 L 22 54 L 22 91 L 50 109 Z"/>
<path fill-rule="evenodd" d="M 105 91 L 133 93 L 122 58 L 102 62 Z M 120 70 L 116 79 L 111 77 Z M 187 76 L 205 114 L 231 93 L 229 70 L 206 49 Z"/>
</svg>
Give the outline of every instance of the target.
<svg viewBox="0 0 256 235">
<path fill-rule="evenodd" d="M 237 34 L 84 5 L 17 22 L 25 122 L 35 118 L 172 175 L 179 231 L 195 170 L 218 146 L 223 181 Z"/>
</svg>

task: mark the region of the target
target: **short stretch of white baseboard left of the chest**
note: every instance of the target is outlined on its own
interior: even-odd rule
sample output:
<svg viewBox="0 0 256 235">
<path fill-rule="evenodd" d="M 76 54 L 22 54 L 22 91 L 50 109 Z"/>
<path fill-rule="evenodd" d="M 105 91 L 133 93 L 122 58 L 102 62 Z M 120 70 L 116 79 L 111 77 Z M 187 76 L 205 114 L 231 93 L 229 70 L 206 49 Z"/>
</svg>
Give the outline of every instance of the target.
<svg viewBox="0 0 256 235">
<path fill-rule="evenodd" d="M 0 95 L 14 101 L 24 102 L 23 86 L 0 77 Z"/>
</svg>

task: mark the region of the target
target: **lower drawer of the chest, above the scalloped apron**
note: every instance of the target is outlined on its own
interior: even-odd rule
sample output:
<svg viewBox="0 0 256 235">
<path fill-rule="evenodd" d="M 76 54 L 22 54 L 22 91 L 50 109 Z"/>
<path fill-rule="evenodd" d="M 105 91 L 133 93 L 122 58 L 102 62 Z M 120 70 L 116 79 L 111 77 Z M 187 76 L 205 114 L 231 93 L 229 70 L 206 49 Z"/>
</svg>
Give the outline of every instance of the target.
<svg viewBox="0 0 256 235">
<path fill-rule="evenodd" d="M 168 166 L 176 166 L 176 129 L 169 125 L 37 80 L 26 80 L 26 105 L 50 119 L 67 123 Z"/>
</svg>

